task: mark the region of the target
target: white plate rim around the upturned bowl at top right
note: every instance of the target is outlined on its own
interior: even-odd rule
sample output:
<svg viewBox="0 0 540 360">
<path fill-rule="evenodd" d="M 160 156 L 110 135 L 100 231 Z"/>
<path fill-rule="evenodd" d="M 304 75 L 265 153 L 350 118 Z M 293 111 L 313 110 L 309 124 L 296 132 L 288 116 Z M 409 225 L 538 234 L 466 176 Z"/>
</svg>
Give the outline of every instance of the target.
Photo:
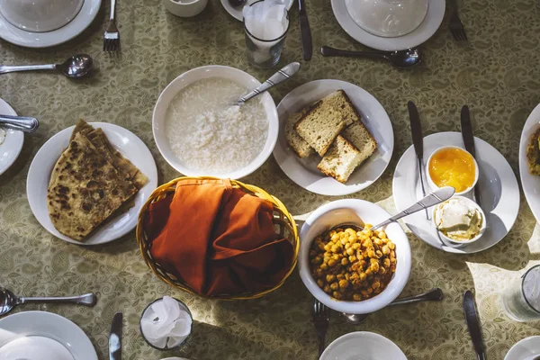
<svg viewBox="0 0 540 360">
<path fill-rule="evenodd" d="M 339 25 L 356 41 L 373 49 L 396 51 L 419 46 L 431 38 L 443 22 L 445 3 L 445 0 L 430 0 L 428 14 L 419 27 L 397 38 L 383 38 L 362 29 L 348 13 L 346 0 L 332 0 L 332 10 Z"/>
</svg>

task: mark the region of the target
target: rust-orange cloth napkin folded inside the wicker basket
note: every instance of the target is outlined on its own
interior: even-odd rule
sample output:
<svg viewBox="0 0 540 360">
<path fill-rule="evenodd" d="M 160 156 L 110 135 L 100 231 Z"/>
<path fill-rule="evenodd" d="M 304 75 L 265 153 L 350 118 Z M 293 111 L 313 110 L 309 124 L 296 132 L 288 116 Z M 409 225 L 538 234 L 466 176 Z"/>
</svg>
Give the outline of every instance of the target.
<svg viewBox="0 0 540 360">
<path fill-rule="evenodd" d="M 169 273 L 208 296 L 257 293 L 278 284 L 293 245 L 275 234 L 273 205 L 229 180 L 184 180 L 150 205 L 150 252 Z"/>
</svg>

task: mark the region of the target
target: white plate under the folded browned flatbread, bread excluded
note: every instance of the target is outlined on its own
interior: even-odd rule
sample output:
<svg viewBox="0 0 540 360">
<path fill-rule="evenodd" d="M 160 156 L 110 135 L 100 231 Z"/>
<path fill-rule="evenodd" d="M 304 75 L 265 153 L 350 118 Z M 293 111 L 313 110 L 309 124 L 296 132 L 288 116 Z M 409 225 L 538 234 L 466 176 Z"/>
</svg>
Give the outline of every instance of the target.
<svg viewBox="0 0 540 360">
<path fill-rule="evenodd" d="M 147 201 L 150 194 L 157 187 L 157 168 L 154 157 L 147 146 L 130 130 L 121 128 L 107 122 L 90 122 L 94 128 L 102 128 L 107 138 L 114 148 L 128 158 L 134 166 L 148 176 L 148 184 L 144 185 L 135 196 L 135 205 L 129 211 L 121 213 L 111 220 L 106 221 L 103 226 L 96 229 L 85 241 L 76 241 L 72 238 L 60 234 L 52 224 L 47 209 L 47 188 L 49 186 L 50 174 L 56 165 L 58 158 L 69 144 L 69 138 L 75 126 L 61 130 L 58 134 L 50 138 L 40 148 L 31 162 L 26 181 L 26 194 L 30 208 L 34 216 L 43 228 L 52 235 L 67 242 L 80 245 L 97 245 L 121 238 L 137 226 L 139 211 Z"/>
</svg>

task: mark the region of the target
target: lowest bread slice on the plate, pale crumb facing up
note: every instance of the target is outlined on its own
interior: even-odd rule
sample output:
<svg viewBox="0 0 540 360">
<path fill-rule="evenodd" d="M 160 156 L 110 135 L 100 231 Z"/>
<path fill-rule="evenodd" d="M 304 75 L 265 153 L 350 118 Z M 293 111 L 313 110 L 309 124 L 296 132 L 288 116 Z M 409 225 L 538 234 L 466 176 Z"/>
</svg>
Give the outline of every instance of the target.
<svg viewBox="0 0 540 360">
<path fill-rule="evenodd" d="M 362 153 L 347 139 L 338 135 L 317 168 L 345 184 L 356 166 L 363 161 Z"/>
</svg>

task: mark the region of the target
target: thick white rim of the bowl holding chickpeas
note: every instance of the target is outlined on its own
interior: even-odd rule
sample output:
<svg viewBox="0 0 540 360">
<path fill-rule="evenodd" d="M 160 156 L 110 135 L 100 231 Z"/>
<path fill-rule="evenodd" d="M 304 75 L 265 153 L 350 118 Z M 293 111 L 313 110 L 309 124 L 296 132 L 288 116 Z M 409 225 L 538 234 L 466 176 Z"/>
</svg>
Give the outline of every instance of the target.
<svg viewBox="0 0 540 360">
<path fill-rule="evenodd" d="M 388 218 L 391 217 L 388 211 L 385 211 L 381 206 L 374 202 L 367 202 L 361 199 L 342 199 L 326 203 L 320 206 L 317 210 L 313 211 L 308 219 L 303 223 L 302 229 L 300 230 L 299 237 L 301 247 L 298 254 L 298 269 L 302 278 L 302 283 L 306 286 L 312 296 L 334 311 L 346 312 L 349 314 L 368 314 L 381 310 L 400 295 L 403 288 L 409 281 L 410 269 L 412 267 L 412 255 L 410 251 L 409 238 L 407 238 L 407 234 L 401 228 L 401 225 L 397 222 L 393 222 L 383 229 L 391 228 L 392 232 L 397 231 L 400 234 L 400 239 L 398 240 L 400 244 L 398 245 L 398 243 L 396 243 L 396 247 L 399 247 L 399 254 L 401 257 L 404 257 L 405 261 L 398 261 L 396 273 L 394 273 L 392 281 L 382 293 L 361 302 L 337 301 L 332 299 L 329 294 L 324 293 L 322 289 L 320 289 L 319 285 L 315 283 L 315 279 L 313 278 L 313 275 L 311 275 L 308 258 L 311 248 L 311 241 L 315 237 L 309 240 L 306 239 L 312 224 L 314 224 L 317 220 L 320 220 L 320 217 L 323 215 L 332 211 L 347 209 L 358 212 L 356 209 L 365 207 L 371 207 L 372 209 L 379 211 L 384 216 L 388 216 Z"/>
</svg>

